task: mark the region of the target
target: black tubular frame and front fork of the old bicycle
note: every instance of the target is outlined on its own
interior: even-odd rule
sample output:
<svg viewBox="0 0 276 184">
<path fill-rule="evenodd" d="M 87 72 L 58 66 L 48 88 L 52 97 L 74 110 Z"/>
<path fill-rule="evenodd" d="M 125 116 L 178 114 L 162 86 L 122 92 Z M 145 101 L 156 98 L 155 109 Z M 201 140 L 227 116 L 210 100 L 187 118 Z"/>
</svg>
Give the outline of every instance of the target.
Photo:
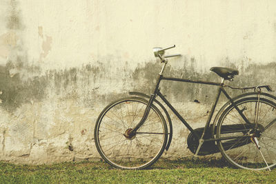
<svg viewBox="0 0 276 184">
<path fill-rule="evenodd" d="M 197 132 L 195 132 L 195 130 L 193 130 L 192 127 L 190 127 L 190 125 L 187 123 L 187 121 L 179 114 L 179 112 L 177 112 L 177 110 L 175 110 L 175 108 L 172 107 L 172 105 L 168 102 L 168 100 L 165 98 L 165 96 L 163 94 L 161 94 L 161 92 L 159 90 L 159 83 L 161 82 L 161 80 L 179 81 L 179 82 L 186 82 L 186 83 L 200 83 L 200 84 L 206 84 L 206 85 L 217 85 L 219 87 L 217 90 L 217 96 L 215 98 L 215 103 L 213 103 L 212 109 L 210 110 L 210 114 L 208 116 L 206 125 L 204 127 L 204 132 L 201 135 L 197 134 Z M 219 96 L 221 95 L 221 92 L 223 92 L 224 95 L 226 96 L 226 98 L 230 100 L 230 103 L 232 103 L 234 105 L 237 112 L 239 112 L 239 114 L 242 116 L 242 119 L 244 119 L 244 121 L 246 123 L 250 124 L 250 122 L 248 121 L 246 116 L 244 116 L 244 114 L 242 113 L 242 110 L 239 110 L 239 108 L 237 107 L 237 105 L 235 104 L 233 99 L 227 94 L 226 90 L 224 90 L 224 80 L 221 83 L 214 83 L 214 82 L 209 82 L 209 81 L 193 81 L 193 80 L 189 80 L 189 79 L 166 77 L 166 76 L 163 76 L 162 74 L 159 74 L 159 76 L 157 78 L 157 82 L 155 83 L 155 88 L 154 88 L 154 90 L 150 96 L 150 99 L 148 101 L 148 104 L 146 106 L 144 116 L 142 117 L 141 121 L 132 129 L 132 132 L 137 132 L 139 127 L 141 127 L 141 125 L 143 125 L 144 121 L 146 121 L 146 119 L 148 118 L 148 113 L 150 111 L 150 105 L 152 105 L 155 97 L 159 96 L 162 99 L 162 101 L 164 101 L 164 103 L 166 103 L 166 105 L 168 105 L 170 110 L 172 110 L 172 112 L 177 116 L 177 118 L 180 119 L 180 121 L 188 128 L 188 130 L 190 130 L 190 132 L 192 132 L 194 134 L 194 136 L 197 137 L 197 139 L 204 139 L 204 134 L 206 133 L 207 128 L 210 126 L 210 121 L 215 112 L 215 108 L 217 106 L 217 102 L 219 101 Z M 245 137 L 245 136 L 241 136 L 241 137 Z M 218 140 L 222 140 L 222 139 L 225 140 L 225 139 L 234 139 L 234 138 L 239 138 L 239 136 L 235 136 L 235 137 L 228 136 L 228 137 L 224 137 L 224 138 L 220 138 L 220 139 L 214 139 L 214 138 L 213 139 L 205 139 L 204 141 L 218 141 Z"/>
</svg>

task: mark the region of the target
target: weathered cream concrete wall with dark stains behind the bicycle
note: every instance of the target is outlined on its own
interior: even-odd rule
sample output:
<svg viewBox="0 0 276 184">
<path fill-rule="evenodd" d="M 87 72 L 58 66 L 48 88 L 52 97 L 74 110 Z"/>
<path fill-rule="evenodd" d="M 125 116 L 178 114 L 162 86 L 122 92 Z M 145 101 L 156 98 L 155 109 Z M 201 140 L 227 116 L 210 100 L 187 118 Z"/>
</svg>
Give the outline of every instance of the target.
<svg viewBox="0 0 276 184">
<path fill-rule="evenodd" d="M 98 159 L 97 116 L 128 91 L 150 92 L 160 70 L 155 46 L 176 44 L 169 53 L 182 54 L 170 59 L 170 76 L 217 82 L 209 68 L 225 66 L 239 69 L 233 85 L 276 89 L 275 8 L 275 1 L 0 1 L 0 160 Z M 193 127 L 204 126 L 215 89 L 168 82 L 161 89 Z M 188 130 L 172 121 L 164 156 L 188 156 Z"/>
</svg>

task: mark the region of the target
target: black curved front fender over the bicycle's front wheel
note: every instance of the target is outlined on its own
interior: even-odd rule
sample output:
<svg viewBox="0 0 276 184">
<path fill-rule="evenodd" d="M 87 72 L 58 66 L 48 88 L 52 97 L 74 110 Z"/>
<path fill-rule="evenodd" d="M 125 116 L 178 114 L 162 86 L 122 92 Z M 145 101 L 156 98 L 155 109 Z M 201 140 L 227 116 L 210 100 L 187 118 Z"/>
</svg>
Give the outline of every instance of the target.
<svg viewBox="0 0 276 184">
<path fill-rule="evenodd" d="M 128 94 L 132 95 L 132 96 L 142 96 L 146 99 L 150 99 L 150 96 L 148 96 L 147 94 L 141 93 L 141 92 L 128 92 Z M 170 147 L 170 143 L 172 141 L 172 120 L 170 119 L 170 115 L 168 114 L 168 111 L 166 110 L 166 108 L 164 107 L 164 105 L 162 105 L 159 101 L 157 101 L 156 99 L 154 99 L 154 102 L 157 103 L 159 105 L 159 107 L 164 111 L 164 113 L 167 116 L 168 119 L 168 125 L 169 125 L 169 136 L 168 136 L 168 141 L 166 144 L 166 151 L 168 151 L 168 148 Z"/>
</svg>

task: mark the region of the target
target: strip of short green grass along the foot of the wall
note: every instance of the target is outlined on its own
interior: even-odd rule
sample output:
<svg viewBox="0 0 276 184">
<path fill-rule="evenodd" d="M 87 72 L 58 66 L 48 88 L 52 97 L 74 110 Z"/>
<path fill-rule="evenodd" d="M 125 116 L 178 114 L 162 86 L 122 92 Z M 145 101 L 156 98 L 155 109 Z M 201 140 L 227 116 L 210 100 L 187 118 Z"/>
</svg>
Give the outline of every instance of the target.
<svg viewBox="0 0 276 184">
<path fill-rule="evenodd" d="M 0 183 L 274 183 L 272 172 L 233 169 L 223 161 L 159 160 L 149 170 L 116 170 L 103 162 L 13 165 L 0 162 Z"/>
</svg>

